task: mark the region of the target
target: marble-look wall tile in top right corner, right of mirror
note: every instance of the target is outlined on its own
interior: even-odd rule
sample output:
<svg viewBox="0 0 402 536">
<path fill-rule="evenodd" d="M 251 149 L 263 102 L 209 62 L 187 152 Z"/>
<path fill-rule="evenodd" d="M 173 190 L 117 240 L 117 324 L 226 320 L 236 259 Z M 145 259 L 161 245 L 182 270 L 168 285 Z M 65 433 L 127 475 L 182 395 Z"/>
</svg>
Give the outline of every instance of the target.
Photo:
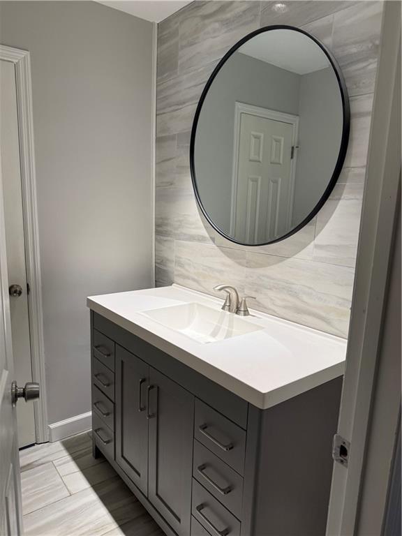
<svg viewBox="0 0 402 536">
<path fill-rule="evenodd" d="M 374 91 L 382 5 L 382 1 L 361 1 L 334 15 L 332 51 L 350 96 Z"/>
</svg>

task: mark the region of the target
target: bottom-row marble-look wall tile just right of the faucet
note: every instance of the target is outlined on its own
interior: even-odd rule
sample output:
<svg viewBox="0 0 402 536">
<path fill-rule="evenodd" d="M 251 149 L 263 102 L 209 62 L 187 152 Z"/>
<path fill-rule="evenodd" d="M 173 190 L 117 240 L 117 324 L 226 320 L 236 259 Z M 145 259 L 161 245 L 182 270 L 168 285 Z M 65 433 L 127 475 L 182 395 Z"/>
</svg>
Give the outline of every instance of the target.
<svg viewBox="0 0 402 536">
<path fill-rule="evenodd" d="M 354 270 L 247 252 L 246 294 L 253 307 L 345 337 Z M 255 301 L 255 304 L 254 304 Z"/>
</svg>

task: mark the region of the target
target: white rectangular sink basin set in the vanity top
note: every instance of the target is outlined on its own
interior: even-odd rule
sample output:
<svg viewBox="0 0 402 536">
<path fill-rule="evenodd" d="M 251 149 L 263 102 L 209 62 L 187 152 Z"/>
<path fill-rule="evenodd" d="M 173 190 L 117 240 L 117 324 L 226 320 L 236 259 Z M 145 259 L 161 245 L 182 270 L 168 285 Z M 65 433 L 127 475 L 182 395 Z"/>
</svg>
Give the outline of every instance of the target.
<svg viewBox="0 0 402 536">
<path fill-rule="evenodd" d="M 197 303 L 161 307 L 141 314 L 200 343 L 214 343 L 264 329 L 233 313 Z"/>
</svg>

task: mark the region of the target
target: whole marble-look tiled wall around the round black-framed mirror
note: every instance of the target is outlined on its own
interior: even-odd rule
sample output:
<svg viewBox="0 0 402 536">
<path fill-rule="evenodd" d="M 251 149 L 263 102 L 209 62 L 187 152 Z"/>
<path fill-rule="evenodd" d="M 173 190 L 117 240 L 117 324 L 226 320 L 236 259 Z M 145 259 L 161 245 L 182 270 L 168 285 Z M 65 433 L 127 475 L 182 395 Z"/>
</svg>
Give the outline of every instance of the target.
<svg viewBox="0 0 402 536">
<path fill-rule="evenodd" d="M 230 283 L 251 306 L 348 336 L 375 73 L 381 1 L 194 1 L 158 24 L 156 284 L 213 294 Z M 191 185 L 195 108 L 219 59 L 259 27 L 290 24 L 322 40 L 343 70 L 351 131 L 341 177 L 313 221 L 277 244 L 244 247 L 205 221 Z"/>
</svg>

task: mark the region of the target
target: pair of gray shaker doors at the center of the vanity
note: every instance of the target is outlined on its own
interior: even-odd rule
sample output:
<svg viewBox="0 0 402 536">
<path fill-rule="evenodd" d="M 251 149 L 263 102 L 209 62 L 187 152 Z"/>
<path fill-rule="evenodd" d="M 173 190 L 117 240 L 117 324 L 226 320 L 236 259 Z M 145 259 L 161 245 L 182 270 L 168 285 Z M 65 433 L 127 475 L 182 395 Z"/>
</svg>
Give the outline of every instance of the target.
<svg viewBox="0 0 402 536">
<path fill-rule="evenodd" d="M 180 536 L 190 533 L 194 396 L 116 345 L 115 459 Z"/>
</svg>

